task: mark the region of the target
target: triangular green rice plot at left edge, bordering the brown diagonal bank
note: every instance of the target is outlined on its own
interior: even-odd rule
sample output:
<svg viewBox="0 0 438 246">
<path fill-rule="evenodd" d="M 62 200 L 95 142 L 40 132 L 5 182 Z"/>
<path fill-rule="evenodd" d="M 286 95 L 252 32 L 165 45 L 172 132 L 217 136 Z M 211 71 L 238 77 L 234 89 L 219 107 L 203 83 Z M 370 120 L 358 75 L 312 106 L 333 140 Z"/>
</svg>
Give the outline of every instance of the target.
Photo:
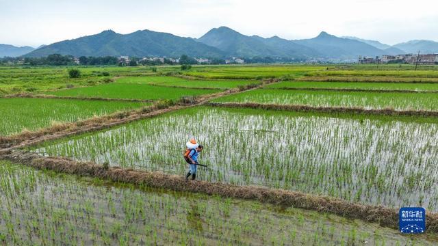
<svg viewBox="0 0 438 246">
<path fill-rule="evenodd" d="M 144 105 L 140 102 L 0 98 L 0 135 L 20 133 L 23 129 L 36 131 L 50 126 L 51 122 L 75 122 Z"/>
</svg>

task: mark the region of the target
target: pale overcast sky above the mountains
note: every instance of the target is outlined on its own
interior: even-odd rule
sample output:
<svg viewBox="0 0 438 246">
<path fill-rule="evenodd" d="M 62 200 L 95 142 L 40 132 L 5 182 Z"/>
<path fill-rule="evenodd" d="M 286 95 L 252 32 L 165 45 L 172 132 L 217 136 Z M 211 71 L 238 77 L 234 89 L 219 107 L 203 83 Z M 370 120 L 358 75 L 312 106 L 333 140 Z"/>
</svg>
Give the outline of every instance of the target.
<svg viewBox="0 0 438 246">
<path fill-rule="evenodd" d="M 287 39 L 327 31 L 387 44 L 438 41 L 437 7 L 437 0 L 0 0 L 0 43 L 39 46 L 105 29 L 199 38 L 220 26 Z"/>
</svg>

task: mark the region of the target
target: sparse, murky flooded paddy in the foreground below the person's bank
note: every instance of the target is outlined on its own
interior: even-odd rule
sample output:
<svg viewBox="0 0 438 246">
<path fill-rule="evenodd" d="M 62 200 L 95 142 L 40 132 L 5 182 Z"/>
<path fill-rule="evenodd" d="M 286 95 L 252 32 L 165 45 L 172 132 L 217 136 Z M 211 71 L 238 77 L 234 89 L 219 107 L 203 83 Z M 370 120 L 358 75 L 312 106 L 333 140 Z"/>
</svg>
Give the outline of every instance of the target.
<svg viewBox="0 0 438 246">
<path fill-rule="evenodd" d="M 431 245 L 436 238 L 333 215 L 163 192 L 0 161 L 0 243 L 14 245 Z"/>
</svg>

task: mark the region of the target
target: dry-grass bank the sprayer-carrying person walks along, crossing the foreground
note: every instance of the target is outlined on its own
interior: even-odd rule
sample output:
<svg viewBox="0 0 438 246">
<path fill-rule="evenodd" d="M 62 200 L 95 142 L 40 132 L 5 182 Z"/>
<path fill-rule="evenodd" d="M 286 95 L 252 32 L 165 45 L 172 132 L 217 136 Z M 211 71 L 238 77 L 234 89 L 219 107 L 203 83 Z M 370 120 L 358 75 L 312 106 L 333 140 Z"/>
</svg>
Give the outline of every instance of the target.
<svg viewBox="0 0 438 246">
<path fill-rule="evenodd" d="M 222 197 L 316 210 L 321 213 L 361 219 L 369 223 L 378 223 L 381 226 L 398 229 L 398 210 L 395 208 L 347 202 L 335 197 L 266 187 L 237 186 L 222 182 L 187 181 L 183 176 L 163 174 L 162 172 L 148 172 L 121 167 L 105 168 L 103 165 L 92 162 L 79 162 L 63 157 L 40 156 L 23 150 L 3 152 L 3 154 L 0 154 L 0 159 L 21 163 L 36 169 L 49 169 L 64 174 L 96 177 L 113 182 L 126 182 L 172 191 L 205 193 L 207 195 L 220 195 Z M 438 233 L 437 213 L 427 213 L 426 228 L 427 232 Z"/>
</svg>

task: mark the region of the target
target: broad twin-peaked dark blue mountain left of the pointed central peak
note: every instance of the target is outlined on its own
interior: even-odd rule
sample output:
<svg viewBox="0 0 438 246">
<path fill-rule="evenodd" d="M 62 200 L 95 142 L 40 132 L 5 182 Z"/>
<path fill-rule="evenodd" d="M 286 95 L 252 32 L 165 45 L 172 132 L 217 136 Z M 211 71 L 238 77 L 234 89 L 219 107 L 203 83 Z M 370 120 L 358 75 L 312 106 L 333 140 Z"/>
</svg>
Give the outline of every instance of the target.
<svg viewBox="0 0 438 246">
<path fill-rule="evenodd" d="M 179 57 L 186 54 L 194 57 L 222 57 L 222 51 L 201 44 L 191 38 L 174 36 L 149 30 L 128 34 L 116 33 L 112 30 L 83 36 L 74 40 L 56 42 L 42 49 L 32 51 L 25 57 L 44 57 L 58 53 L 61 55 L 80 56 L 120 56 L 132 57 Z"/>
</svg>

